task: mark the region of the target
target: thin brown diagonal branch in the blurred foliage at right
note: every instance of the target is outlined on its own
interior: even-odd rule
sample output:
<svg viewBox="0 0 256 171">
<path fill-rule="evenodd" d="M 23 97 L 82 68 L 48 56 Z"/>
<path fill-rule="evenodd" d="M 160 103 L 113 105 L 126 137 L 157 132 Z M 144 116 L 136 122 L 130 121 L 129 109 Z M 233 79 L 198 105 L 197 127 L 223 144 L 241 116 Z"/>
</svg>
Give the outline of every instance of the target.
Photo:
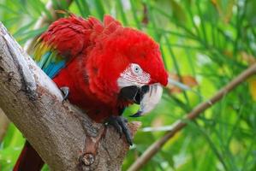
<svg viewBox="0 0 256 171">
<path fill-rule="evenodd" d="M 231 80 L 228 85 L 225 85 L 220 91 L 210 98 L 210 100 L 205 101 L 204 103 L 200 103 L 197 105 L 188 115 L 185 117 L 185 121 L 192 121 L 196 119 L 205 109 L 211 108 L 214 103 L 217 103 L 222 97 L 232 91 L 237 85 L 240 85 L 243 81 L 247 80 L 250 76 L 256 74 L 256 64 L 253 64 L 251 67 L 247 68 L 234 80 Z M 153 143 L 148 149 L 134 162 L 134 164 L 128 168 L 128 171 L 136 171 L 140 170 L 146 162 L 148 162 L 152 156 L 154 156 L 164 144 L 171 139 L 176 133 L 182 130 L 183 127 L 186 127 L 187 123 L 184 120 L 176 121 L 172 125 L 172 129 L 164 134 L 164 137 L 158 139 L 155 143 Z"/>
</svg>

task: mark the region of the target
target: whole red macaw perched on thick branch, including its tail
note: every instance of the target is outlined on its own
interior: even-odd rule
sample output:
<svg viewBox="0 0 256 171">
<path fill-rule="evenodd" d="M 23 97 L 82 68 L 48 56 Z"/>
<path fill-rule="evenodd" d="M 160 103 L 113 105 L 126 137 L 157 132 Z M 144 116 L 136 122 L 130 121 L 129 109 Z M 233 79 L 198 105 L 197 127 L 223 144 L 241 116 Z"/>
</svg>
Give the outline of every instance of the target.
<svg viewBox="0 0 256 171">
<path fill-rule="evenodd" d="M 137 103 L 140 109 L 132 117 L 149 113 L 170 82 L 159 45 L 110 15 L 102 22 L 73 14 L 54 21 L 38 38 L 33 60 L 63 91 L 63 99 L 93 121 L 115 127 L 130 145 L 124 109 Z M 27 142 L 14 170 L 40 170 L 43 165 Z"/>
</svg>

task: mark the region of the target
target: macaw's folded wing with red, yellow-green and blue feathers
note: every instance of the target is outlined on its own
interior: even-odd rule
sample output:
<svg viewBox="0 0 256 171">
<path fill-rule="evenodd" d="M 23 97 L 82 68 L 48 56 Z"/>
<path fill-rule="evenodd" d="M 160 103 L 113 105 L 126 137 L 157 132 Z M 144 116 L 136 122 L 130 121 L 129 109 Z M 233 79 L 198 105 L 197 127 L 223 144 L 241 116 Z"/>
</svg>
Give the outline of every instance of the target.
<svg viewBox="0 0 256 171">
<path fill-rule="evenodd" d="M 102 30 L 102 23 L 93 17 L 84 20 L 70 15 L 68 18 L 55 21 L 39 37 L 33 60 L 52 79 L 68 65 L 68 62 L 93 44 L 92 38 Z"/>
</svg>

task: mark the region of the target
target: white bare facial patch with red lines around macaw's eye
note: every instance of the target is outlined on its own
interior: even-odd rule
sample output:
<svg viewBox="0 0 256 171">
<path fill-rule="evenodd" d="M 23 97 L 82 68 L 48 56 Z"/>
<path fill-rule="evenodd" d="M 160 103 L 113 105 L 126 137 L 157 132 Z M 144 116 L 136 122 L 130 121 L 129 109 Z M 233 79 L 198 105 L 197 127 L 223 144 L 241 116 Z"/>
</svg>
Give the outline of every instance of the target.
<svg viewBox="0 0 256 171">
<path fill-rule="evenodd" d="M 140 65 L 131 63 L 128 65 L 128 68 L 120 74 L 120 77 L 117 80 L 117 85 L 120 88 L 130 85 L 141 87 L 150 82 L 150 77 L 150 74 L 143 71 L 143 69 L 140 68 Z"/>
</svg>

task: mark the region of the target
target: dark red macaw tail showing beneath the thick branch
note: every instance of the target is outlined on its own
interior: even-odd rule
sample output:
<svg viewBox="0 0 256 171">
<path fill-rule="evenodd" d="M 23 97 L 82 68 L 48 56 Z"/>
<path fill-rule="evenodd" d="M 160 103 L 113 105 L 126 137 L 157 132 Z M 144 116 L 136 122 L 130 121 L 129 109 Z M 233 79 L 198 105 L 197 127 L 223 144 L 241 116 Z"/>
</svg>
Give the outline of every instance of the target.
<svg viewBox="0 0 256 171">
<path fill-rule="evenodd" d="M 26 141 L 17 162 L 14 171 L 40 171 L 44 166 L 44 161 L 33 146 Z"/>
</svg>

